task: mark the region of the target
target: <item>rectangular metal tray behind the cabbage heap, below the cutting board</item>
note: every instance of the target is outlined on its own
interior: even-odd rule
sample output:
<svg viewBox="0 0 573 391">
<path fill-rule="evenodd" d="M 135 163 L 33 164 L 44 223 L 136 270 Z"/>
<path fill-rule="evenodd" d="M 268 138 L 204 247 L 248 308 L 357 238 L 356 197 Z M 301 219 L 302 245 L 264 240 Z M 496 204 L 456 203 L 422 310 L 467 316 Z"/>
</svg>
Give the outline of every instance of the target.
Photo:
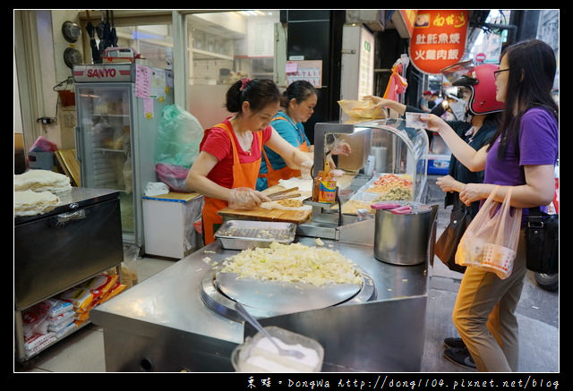
<svg viewBox="0 0 573 391">
<path fill-rule="evenodd" d="M 294 223 L 228 220 L 218 228 L 215 237 L 224 249 L 245 250 L 269 247 L 272 242 L 292 243 L 295 233 Z"/>
</svg>

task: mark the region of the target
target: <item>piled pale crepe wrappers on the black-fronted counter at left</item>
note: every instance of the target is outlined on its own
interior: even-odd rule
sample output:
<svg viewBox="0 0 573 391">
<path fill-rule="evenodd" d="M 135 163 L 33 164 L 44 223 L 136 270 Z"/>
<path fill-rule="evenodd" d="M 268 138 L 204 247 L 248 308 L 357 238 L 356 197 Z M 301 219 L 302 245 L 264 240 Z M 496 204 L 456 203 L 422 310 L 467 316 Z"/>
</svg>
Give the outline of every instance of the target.
<svg viewBox="0 0 573 391">
<path fill-rule="evenodd" d="M 46 213 L 60 203 L 57 194 L 72 190 L 70 178 L 48 170 L 14 174 L 14 217 Z"/>
</svg>

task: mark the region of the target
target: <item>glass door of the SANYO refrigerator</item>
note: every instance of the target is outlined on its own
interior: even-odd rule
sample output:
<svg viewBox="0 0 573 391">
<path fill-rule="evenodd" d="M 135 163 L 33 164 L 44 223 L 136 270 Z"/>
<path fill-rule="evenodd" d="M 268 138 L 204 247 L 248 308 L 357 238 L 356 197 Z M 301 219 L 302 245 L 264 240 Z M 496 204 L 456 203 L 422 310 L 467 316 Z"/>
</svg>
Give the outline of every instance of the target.
<svg viewBox="0 0 573 391">
<path fill-rule="evenodd" d="M 119 192 L 124 240 L 134 236 L 132 84 L 76 85 L 81 186 Z"/>
</svg>

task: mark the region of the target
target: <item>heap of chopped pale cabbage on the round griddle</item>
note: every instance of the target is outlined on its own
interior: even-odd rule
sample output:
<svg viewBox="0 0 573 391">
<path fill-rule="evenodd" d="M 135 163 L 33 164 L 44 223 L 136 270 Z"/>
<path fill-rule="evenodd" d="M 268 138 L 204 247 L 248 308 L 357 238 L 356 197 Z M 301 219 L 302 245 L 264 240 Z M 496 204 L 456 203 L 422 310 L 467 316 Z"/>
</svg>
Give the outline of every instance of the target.
<svg viewBox="0 0 573 391">
<path fill-rule="evenodd" d="M 361 284 L 355 264 L 340 252 L 301 243 L 272 242 L 269 248 L 254 248 L 225 259 L 221 272 L 239 277 L 312 285 Z"/>
</svg>

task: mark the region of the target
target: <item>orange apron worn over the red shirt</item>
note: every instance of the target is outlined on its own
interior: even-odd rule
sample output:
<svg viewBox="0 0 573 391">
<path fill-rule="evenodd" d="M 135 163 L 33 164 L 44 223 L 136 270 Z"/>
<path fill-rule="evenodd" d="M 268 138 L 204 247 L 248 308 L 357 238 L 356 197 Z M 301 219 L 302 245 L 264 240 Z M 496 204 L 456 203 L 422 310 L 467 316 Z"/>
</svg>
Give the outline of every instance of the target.
<svg viewBox="0 0 573 391">
<path fill-rule="evenodd" d="M 261 168 L 261 157 L 252 163 L 241 163 L 236 149 L 233 131 L 226 123 L 219 123 L 213 127 L 224 129 L 231 140 L 231 147 L 233 149 L 233 186 L 231 188 L 250 187 L 254 190 L 257 184 L 257 175 Z M 253 136 L 259 138 L 259 148 L 262 150 L 262 132 L 254 132 Z M 218 211 L 222 208 L 227 208 L 227 206 L 228 202 L 226 200 L 218 200 L 210 197 L 204 198 L 202 221 L 203 241 L 205 245 L 215 241 L 214 234 L 218 230 L 218 227 L 223 224 L 223 217 L 218 214 Z"/>
</svg>

